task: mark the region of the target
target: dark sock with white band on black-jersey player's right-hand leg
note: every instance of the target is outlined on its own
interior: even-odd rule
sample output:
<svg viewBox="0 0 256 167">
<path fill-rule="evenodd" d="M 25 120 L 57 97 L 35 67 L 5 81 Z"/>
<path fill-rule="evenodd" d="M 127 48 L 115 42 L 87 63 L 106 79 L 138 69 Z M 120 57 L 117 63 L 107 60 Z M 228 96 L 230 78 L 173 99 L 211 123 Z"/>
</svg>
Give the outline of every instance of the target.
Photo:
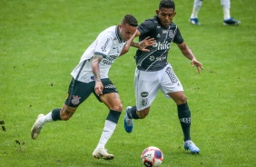
<svg viewBox="0 0 256 167">
<path fill-rule="evenodd" d="M 182 125 L 182 132 L 184 135 L 184 141 L 191 140 L 190 128 L 191 128 L 191 111 L 188 103 L 182 103 L 178 106 L 178 116 Z"/>
</svg>

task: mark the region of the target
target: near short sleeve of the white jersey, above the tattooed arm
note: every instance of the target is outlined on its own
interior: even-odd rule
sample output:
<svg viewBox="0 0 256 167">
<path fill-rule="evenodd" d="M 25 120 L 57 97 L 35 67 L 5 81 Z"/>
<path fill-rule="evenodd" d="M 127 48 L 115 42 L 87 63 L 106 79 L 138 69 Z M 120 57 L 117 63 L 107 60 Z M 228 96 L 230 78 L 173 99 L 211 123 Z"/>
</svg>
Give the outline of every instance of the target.
<svg viewBox="0 0 256 167">
<path fill-rule="evenodd" d="M 112 49 L 112 45 L 113 37 L 111 36 L 111 34 L 99 34 L 97 37 L 94 54 L 103 55 L 103 57 L 105 58 Z"/>
</svg>

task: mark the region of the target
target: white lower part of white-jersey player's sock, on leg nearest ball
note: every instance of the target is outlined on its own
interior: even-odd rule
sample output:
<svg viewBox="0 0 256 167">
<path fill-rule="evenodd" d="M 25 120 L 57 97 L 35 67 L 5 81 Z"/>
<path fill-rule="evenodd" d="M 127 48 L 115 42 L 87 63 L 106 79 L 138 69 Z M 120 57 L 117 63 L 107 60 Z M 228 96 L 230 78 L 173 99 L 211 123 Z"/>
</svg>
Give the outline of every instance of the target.
<svg viewBox="0 0 256 167">
<path fill-rule="evenodd" d="M 115 127 L 116 127 L 116 123 L 110 122 L 108 120 L 105 121 L 103 133 L 96 149 L 105 148 L 105 144 L 112 136 Z"/>
</svg>

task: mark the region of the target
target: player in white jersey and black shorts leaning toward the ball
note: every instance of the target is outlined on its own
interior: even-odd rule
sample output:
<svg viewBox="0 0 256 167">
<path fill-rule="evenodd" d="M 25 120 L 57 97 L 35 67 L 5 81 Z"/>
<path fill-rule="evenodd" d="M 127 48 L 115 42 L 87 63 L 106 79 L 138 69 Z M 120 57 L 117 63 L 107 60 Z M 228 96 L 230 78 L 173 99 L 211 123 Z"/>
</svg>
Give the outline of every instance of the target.
<svg viewBox="0 0 256 167">
<path fill-rule="evenodd" d="M 52 112 L 39 114 L 31 130 L 31 137 L 35 140 L 41 132 L 44 123 L 58 120 L 69 120 L 77 107 L 94 93 L 96 98 L 109 108 L 108 116 L 104 122 L 103 133 L 96 146 L 94 158 L 112 160 L 113 154 L 105 150 L 105 144 L 110 139 L 120 114 L 123 104 L 117 89 L 108 77 L 108 72 L 114 60 L 128 52 L 137 32 L 138 25 L 133 15 L 125 15 L 120 25 L 111 26 L 98 35 L 93 44 L 84 52 L 79 64 L 71 73 L 73 78 L 69 85 L 67 98 L 63 107 Z M 140 47 L 152 45 L 153 39 L 145 39 Z M 143 49 L 146 51 L 146 49 Z"/>
</svg>

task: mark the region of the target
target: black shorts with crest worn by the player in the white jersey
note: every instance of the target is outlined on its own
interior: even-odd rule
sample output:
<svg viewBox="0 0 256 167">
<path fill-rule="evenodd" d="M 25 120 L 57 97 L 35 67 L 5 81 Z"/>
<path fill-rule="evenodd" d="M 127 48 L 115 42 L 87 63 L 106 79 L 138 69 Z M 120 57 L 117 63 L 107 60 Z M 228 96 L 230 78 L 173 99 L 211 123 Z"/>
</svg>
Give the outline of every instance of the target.
<svg viewBox="0 0 256 167">
<path fill-rule="evenodd" d="M 109 78 L 102 79 L 103 83 L 103 94 L 105 93 L 118 93 L 117 89 L 110 81 Z M 78 107 L 80 103 L 83 103 L 91 93 L 94 93 L 95 97 L 100 101 L 100 96 L 98 96 L 94 92 L 95 82 L 83 83 L 75 80 L 74 78 L 71 80 L 69 84 L 69 90 L 67 93 L 67 98 L 65 100 L 65 104 L 71 107 Z"/>
</svg>

